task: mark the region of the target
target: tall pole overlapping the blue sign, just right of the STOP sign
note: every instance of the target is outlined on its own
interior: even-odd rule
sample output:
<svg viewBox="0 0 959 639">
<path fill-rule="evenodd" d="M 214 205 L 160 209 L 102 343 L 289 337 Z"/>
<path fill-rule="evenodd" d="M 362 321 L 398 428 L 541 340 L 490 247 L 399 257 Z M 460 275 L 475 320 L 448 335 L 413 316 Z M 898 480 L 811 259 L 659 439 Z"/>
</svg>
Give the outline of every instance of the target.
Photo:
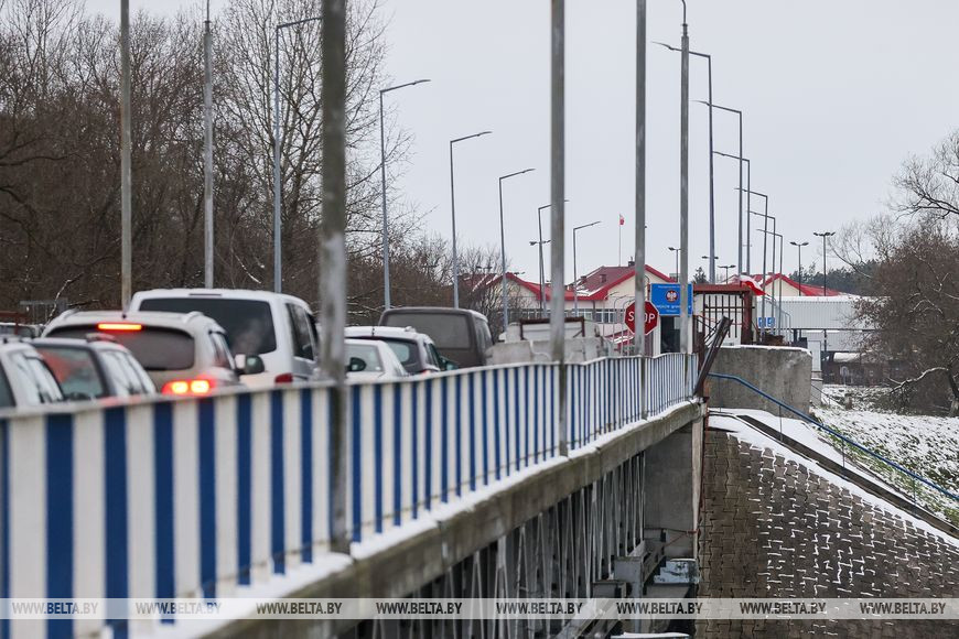
<svg viewBox="0 0 959 639">
<path fill-rule="evenodd" d="M 679 285 L 680 350 L 692 353 L 689 331 L 689 26 L 686 22 L 686 0 L 682 0 L 682 63 L 679 107 L 679 248 L 682 250 Z"/>
</svg>

